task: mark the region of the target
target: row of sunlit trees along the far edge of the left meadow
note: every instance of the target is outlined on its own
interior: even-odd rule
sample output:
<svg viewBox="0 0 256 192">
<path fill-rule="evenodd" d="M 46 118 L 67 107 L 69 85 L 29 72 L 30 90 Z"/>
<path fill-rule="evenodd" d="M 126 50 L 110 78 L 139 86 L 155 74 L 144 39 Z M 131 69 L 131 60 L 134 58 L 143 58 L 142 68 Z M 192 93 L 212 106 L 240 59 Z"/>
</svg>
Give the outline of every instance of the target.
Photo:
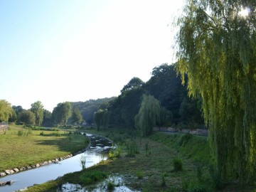
<svg viewBox="0 0 256 192">
<path fill-rule="evenodd" d="M 33 102 L 29 110 L 24 110 L 20 105 L 11 106 L 6 100 L 0 100 L 0 122 L 52 127 L 53 125 L 66 125 L 68 119 L 73 124 L 80 124 L 84 121 L 78 107 L 72 107 L 70 102 L 60 102 L 54 107 L 53 112 L 49 112 L 44 109 L 40 101 Z"/>
</svg>

